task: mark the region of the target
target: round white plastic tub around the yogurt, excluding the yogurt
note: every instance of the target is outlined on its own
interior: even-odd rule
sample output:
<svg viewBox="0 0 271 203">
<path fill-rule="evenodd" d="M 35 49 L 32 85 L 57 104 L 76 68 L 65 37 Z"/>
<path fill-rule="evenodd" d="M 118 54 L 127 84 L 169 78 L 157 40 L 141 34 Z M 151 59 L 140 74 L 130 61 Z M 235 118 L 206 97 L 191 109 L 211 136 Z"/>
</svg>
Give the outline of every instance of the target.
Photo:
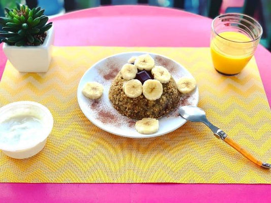
<svg viewBox="0 0 271 203">
<path fill-rule="evenodd" d="M 34 101 L 17 101 L 0 108 L 0 125 L 14 116 L 33 116 L 40 120 L 42 130 L 33 140 L 27 140 L 23 145 L 8 144 L 0 138 L 0 149 L 8 156 L 17 159 L 29 158 L 40 152 L 46 144 L 53 127 L 53 117 L 43 105 Z"/>
</svg>

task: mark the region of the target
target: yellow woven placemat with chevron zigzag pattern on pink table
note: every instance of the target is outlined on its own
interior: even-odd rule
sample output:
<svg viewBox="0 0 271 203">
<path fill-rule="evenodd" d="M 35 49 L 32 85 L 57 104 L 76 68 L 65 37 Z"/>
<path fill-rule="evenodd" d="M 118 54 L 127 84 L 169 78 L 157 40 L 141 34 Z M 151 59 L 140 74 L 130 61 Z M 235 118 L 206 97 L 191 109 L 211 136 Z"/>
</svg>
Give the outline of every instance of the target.
<svg viewBox="0 0 271 203">
<path fill-rule="evenodd" d="M 0 105 L 37 101 L 52 112 L 45 148 L 24 160 L 0 152 L 0 182 L 48 183 L 271 183 L 263 170 L 218 140 L 201 123 L 186 123 L 165 136 L 129 139 L 89 122 L 76 91 L 98 60 L 127 51 L 148 51 L 183 64 L 196 78 L 199 107 L 215 125 L 260 160 L 271 162 L 271 112 L 253 58 L 234 77 L 218 74 L 209 48 L 54 47 L 45 74 L 18 73 L 7 63 Z"/>
</svg>

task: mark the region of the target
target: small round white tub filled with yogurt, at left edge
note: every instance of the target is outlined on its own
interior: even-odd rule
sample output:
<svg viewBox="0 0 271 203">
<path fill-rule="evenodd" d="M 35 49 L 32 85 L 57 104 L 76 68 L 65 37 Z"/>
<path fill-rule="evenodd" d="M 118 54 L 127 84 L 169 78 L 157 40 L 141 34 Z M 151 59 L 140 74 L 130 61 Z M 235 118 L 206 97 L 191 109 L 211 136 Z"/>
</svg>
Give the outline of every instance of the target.
<svg viewBox="0 0 271 203">
<path fill-rule="evenodd" d="M 53 117 L 34 101 L 17 101 L 0 108 L 0 149 L 8 156 L 24 159 L 36 155 L 46 144 Z"/>
</svg>

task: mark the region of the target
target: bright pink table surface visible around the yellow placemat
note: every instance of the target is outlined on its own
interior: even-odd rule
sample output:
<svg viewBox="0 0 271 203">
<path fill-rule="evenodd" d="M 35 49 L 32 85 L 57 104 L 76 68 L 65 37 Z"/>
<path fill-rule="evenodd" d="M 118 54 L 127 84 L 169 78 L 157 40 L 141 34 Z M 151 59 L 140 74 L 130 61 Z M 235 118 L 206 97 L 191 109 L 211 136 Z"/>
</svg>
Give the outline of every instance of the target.
<svg viewBox="0 0 271 203">
<path fill-rule="evenodd" d="M 184 11 L 147 6 L 86 9 L 52 21 L 55 46 L 127 47 L 208 47 L 212 22 Z M 271 54 L 260 46 L 255 57 L 270 104 Z M 6 60 L 1 44 L 0 76 Z M 270 194 L 271 185 L 258 184 L 0 184 L 0 202 L 21 203 L 269 202 Z"/>
</svg>

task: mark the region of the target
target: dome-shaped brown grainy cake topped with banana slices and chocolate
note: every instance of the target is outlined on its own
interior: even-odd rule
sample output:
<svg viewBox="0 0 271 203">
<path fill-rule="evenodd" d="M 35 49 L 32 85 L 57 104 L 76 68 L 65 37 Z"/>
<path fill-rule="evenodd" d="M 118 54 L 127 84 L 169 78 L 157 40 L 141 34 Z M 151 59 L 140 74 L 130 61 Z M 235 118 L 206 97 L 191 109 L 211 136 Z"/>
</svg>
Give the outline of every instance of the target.
<svg viewBox="0 0 271 203">
<path fill-rule="evenodd" d="M 128 66 L 125 64 L 122 71 L 114 78 L 109 89 L 109 99 L 113 107 L 119 113 L 137 120 L 148 117 L 160 118 L 178 106 L 182 93 L 178 91 L 175 80 L 171 77 L 169 72 L 165 70 L 165 67 L 155 66 L 154 59 L 148 54 L 131 58 L 129 62 L 131 69 L 129 70 L 128 67 L 125 68 L 125 65 Z M 143 64 L 144 62 L 146 65 Z M 123 71 L 125 69 L 126 71 Z M 140 76 L 142 72 L 145 73 L 143 76 Z M 131 79 L 133 78 L 131 75 L 134 75 L 135 79 Z M 148 76 L 150 78 L 145 80 Z M 127 80 L 127 78 L 129 80 Z M 142 83 L 143 93 L 133 98 L 130 94 L 125 92 L 126 84 L 137 79 Z M 152 84 L 154 84 L 153 82 L 159 81 L 162 85 L 162 92 L 159 98 L 152 98 L 149 97 L 148 93 L 144 93 L 144 84 L 146 84 L 146 81 L 149 83 L 152 82 Z M 150 88 L 151 87 L 148 86 L 147 90 Z M 150 89 L 150 91 L 152 91 L 152 89 Z"/>
</svg>

